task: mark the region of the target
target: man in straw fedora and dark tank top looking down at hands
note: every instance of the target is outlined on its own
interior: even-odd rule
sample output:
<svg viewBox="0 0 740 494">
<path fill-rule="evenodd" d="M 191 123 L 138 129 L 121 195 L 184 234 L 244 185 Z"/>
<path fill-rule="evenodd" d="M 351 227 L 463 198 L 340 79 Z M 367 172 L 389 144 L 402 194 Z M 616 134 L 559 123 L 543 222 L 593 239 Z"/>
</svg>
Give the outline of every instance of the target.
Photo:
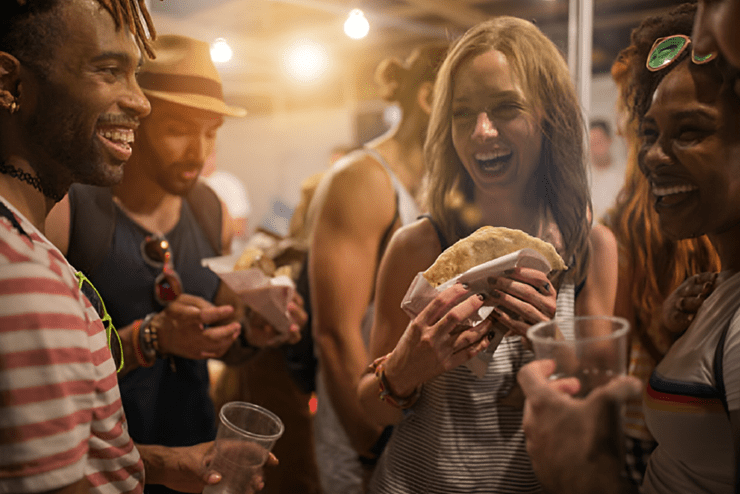
<svg viewBox="0 0 740 494">
<path fill-rule="evenodd" d="M 199 175 L 224 117 L 245 111 L 224 103 L 207 43 L 164 35 L 153 47 L 156 59 L 138 76 L 152 111 L 123 180 L 111 189 L 73 187 L 47 232 L 120 328 L 119 386 L 131 436 L 189 446 L 215 437 L 205 359 L 297 341 L 305 312 L 291 302 L 295 323 L 279 335 L 201 265 L 224 253 L 230 238 L 225 206 Z"/>
</svg>

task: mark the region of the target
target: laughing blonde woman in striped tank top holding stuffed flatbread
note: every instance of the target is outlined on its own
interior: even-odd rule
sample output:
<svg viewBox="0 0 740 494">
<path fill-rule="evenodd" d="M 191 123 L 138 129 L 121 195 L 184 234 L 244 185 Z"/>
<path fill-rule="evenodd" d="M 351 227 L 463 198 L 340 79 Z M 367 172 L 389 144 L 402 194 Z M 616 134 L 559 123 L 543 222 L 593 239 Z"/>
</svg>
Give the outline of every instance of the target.
<svg viewBox="0 0 740 494">
<path fill-rule="evenodd" d="M 591 226 L 585 125 L 562 54 L 513 17 L 480 23 L 452 45 L 433 101 L 430 214 L 399 229 L 383 257 L 376 360 L 358 388 L 365 417 L 394 426 L 369 492 L 540 492 L 521 430 L 516 372 L 533 358 L 522 336 L 556 313 L 610 314 L 616 293 L 616 242 Z M 409 324 L 401 302 L 417 273 L 483 225 L 550 242 L 569 269 L 550 279 L 516 268 L 484 293 L 453 285 Z M 494 307 L 488 319 L 460 324 L 484 304 Z M 503 338 L 488 351 L 494 327 Z M 482 377 L 463 365 L 473 358 Z"/>
</svg>

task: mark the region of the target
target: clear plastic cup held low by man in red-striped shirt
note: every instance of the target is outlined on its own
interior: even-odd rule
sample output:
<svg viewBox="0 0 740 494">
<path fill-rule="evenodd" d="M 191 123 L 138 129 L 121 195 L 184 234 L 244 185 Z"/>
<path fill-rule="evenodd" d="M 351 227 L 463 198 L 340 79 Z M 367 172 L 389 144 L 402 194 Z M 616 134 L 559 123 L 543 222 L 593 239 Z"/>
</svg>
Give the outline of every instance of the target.
<svg viewBox="0 0 740 494">
<path fill-rule="evenodd" d="M 240 401 L 221 407 L 219 419 L 216 455 L 209 470 L 220 473 L 221 481 L 207 486 L 203 494 L 254 492 L 254 477 L 283 435 L 283 422 L 265 408 Z"/>
</svg>

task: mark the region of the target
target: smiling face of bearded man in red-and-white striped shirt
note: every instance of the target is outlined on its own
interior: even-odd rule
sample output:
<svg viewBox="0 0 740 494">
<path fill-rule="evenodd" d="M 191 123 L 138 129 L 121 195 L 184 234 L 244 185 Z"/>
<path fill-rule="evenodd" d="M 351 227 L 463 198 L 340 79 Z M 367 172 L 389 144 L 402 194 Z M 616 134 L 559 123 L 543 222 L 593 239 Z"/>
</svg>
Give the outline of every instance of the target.
<svg viewBox="0 0 740 494">
<path fill-rule="evenodd" d="M 113 185 L 131 156 L 139 118 L 150 110 L 136 83 L 141 54 L 128 29 L 116 30 L 97 2 L 70 0 L 60 13 L 63 39 L 48 71 L 31 69 L 22 82 L 30 161 L 48 164 L 39 174 L 58 187 Z"/>
</svg>

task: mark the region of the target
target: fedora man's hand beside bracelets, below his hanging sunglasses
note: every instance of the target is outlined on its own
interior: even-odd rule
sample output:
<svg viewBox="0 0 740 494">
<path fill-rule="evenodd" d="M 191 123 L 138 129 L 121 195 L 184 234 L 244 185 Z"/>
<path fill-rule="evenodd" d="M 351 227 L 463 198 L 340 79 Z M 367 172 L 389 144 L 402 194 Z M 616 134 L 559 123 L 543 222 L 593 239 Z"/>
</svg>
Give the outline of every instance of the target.
<svg viewBox="0 0 740 494">
<path fill-rule="evenodd" d="M 219 324 L 233 316 L 230 305 L 215 306 L 194 295 L 182 294 L 154 317 L 159 351 L 199 360 L 222 356 L 239 336 L 241 324 Z"/>
</svg>

